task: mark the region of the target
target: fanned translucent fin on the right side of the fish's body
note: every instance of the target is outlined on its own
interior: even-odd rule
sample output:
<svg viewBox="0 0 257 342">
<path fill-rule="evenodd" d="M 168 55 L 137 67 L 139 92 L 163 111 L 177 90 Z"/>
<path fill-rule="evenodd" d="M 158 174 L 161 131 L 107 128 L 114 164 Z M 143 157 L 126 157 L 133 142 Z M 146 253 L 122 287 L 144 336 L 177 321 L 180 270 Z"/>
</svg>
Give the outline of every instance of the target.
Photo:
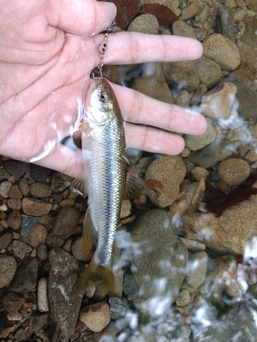
<svg viewBox="0 0 257 342">
<path fill-rule="evenodd" d="M 130 200 L 131 198 L 140 196 L 140 194 L 146 194 L 147 190 L 147 185 L 142 179 L 140 179 L 132 171 L 127 172 L 126 184 L 123 194 L 124 200 Z"/>
</svg>

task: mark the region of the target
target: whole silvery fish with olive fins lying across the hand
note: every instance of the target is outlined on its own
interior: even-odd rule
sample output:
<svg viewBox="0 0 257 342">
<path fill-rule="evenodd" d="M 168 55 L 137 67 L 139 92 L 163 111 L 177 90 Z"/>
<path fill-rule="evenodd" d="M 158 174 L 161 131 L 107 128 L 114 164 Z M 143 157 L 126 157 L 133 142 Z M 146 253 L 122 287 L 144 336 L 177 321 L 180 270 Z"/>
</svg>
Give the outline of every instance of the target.
<svg viewBox="0 0 257 342">
<path fill-rule="evenodd" d="M 82 255 L 97 248 L 77 282 L 75 295 L 102 282 L 114 295 L 112 249 L 119 225 L 121 201 L 147 191 L 145 183 L 127 171 L 125 133 L 117 98 L 104 78 L 94 79 L 86 96 L 82 134 L 84 172 L 71 184 L 78 194 L 88 196 L 83 226 Z"/>
</svg>

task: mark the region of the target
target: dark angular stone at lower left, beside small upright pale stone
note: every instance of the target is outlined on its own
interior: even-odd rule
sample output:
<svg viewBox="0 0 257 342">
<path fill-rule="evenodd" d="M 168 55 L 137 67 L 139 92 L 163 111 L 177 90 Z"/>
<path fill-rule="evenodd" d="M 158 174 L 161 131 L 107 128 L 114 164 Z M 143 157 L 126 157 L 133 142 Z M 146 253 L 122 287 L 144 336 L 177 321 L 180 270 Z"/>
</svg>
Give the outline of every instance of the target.
<svg viewBox="0 0 257 342">
<path fill-rule="evenodd" d="M 36 278 L 38 275 L 38 261 L 36 258 L 24 260 L 19 265 L 14 278 L 11 282 L 9 291 L 12 292 L 28 292 L 36 287 Z"/>
</svg>

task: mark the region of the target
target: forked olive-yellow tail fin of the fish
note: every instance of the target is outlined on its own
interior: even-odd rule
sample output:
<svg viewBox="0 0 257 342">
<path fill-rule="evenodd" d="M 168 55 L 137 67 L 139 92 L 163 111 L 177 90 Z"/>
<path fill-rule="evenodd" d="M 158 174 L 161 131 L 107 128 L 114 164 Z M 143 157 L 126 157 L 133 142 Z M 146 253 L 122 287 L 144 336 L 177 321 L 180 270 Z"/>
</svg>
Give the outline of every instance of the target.
<svg viewBox="0 0 257 342">
<path fill-rule="evenodd" d="M 77 282 L 77 285 L 73 289 L 73 294 L 78 295 L 99 281 L 101 281 L 106 287 L 108 294 L 113 296 L 114 280 L 112 269 L 110 269 L 108 265 L 104 267 L 99 266 L 97 263 L 95 263 L 94 259 L 92 259 L 88 265 L 88 268 L 84 271 L 81 278 Z"/>
</svg>

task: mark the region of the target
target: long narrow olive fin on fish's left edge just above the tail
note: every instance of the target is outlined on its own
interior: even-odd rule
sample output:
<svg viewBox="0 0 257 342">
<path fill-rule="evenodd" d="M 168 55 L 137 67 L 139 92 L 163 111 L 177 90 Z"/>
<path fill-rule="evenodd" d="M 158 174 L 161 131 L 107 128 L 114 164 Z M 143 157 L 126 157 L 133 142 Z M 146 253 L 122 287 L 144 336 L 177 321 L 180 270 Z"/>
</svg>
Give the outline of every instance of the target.
<svg viewBox="0 0 257 342">
<path fill-rule="evenodd" d="M 91 247 L 97 241 L 97 231 L 93 226 L 90 206 L 86 211 L 86 217 L 83 225 L 83 240 L 82 240 L 82 256 L 86 257 L 90 252 Z"/>
</svg>

